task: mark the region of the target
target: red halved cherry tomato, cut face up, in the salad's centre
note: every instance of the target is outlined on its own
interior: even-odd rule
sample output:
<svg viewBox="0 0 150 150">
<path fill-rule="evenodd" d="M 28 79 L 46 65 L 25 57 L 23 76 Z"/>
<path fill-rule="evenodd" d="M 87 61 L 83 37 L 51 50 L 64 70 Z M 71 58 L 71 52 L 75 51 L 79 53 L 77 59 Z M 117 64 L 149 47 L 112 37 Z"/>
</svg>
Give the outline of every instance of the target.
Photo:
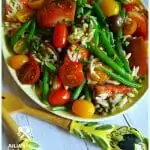
<svg viewBox="0 0 150 150">
<path fill-rule="evenodd" d="M 64 63 L 59 69 L 64 86 L 77 87 L 84 81 L 83 65 L 80 62 Z"/>
</svg>

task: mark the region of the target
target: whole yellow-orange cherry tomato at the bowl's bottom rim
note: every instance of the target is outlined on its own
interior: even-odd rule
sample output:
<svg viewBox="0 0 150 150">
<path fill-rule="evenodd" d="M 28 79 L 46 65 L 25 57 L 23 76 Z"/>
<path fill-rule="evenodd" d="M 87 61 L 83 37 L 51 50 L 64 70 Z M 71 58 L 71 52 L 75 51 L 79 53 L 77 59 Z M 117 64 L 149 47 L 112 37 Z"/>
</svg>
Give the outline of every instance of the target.
<svg viewBox="0 0 150 150">
<path fill-rule="evenodd" d="M 72 112 L 83 118 L 91 118 L 95 112 L 95 107 L 90 101 L 79 99 L 74 101 Z"/>
</svg>

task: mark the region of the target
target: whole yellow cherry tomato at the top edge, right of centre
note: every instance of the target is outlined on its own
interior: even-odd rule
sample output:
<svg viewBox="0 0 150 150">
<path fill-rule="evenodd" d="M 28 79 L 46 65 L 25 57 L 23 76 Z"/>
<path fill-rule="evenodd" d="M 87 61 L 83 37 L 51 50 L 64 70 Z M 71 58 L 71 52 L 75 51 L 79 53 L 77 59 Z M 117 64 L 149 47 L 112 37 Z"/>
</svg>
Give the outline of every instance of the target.
<svg viewBox="0 0 150 150">
<path fill-rule="evenodd" d="M 115 0 L 103 0 L 100 7 L 107 17 L 119 14 L 120 7 Z"/>
</svg>

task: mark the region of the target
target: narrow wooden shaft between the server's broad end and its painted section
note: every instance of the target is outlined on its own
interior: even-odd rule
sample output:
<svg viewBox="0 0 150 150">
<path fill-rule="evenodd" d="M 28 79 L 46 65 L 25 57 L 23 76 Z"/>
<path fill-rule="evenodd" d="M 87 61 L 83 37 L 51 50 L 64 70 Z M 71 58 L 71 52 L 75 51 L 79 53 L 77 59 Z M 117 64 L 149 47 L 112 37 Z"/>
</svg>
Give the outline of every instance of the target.
<svg viewBox="0 0 150 150">
<path fill-rule="evenodd" d="M 65 129 L 65 130 L 69 130 L 69 128 L 70 128 L 71 120 L 65 119 L 62 117 L 58 117 L 56 115 L 51 114 L 50 112 L 31 108 L 28 106 L 25 106 L 24 112 L 31 115 L 31 116 L 34 116 L 34 117 L 39 118 L 41 120 L 44 120 L 48 123 L 57 125 L 57 126 Z"/>
</svg>

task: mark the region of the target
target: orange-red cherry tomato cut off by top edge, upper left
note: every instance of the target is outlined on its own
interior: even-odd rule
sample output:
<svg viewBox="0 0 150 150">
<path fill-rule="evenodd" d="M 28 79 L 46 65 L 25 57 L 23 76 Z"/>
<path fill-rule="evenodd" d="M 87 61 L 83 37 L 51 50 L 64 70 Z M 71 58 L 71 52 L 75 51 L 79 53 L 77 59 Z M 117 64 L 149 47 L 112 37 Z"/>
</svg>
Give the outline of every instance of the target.
<svg viewBox="0 0 150 150">
<path fill-rule="evenodd" d="M 29 0 L 27 4 L 31 9 L 40 9 L 43 3 L 44 0 Z"/>
</svg>

